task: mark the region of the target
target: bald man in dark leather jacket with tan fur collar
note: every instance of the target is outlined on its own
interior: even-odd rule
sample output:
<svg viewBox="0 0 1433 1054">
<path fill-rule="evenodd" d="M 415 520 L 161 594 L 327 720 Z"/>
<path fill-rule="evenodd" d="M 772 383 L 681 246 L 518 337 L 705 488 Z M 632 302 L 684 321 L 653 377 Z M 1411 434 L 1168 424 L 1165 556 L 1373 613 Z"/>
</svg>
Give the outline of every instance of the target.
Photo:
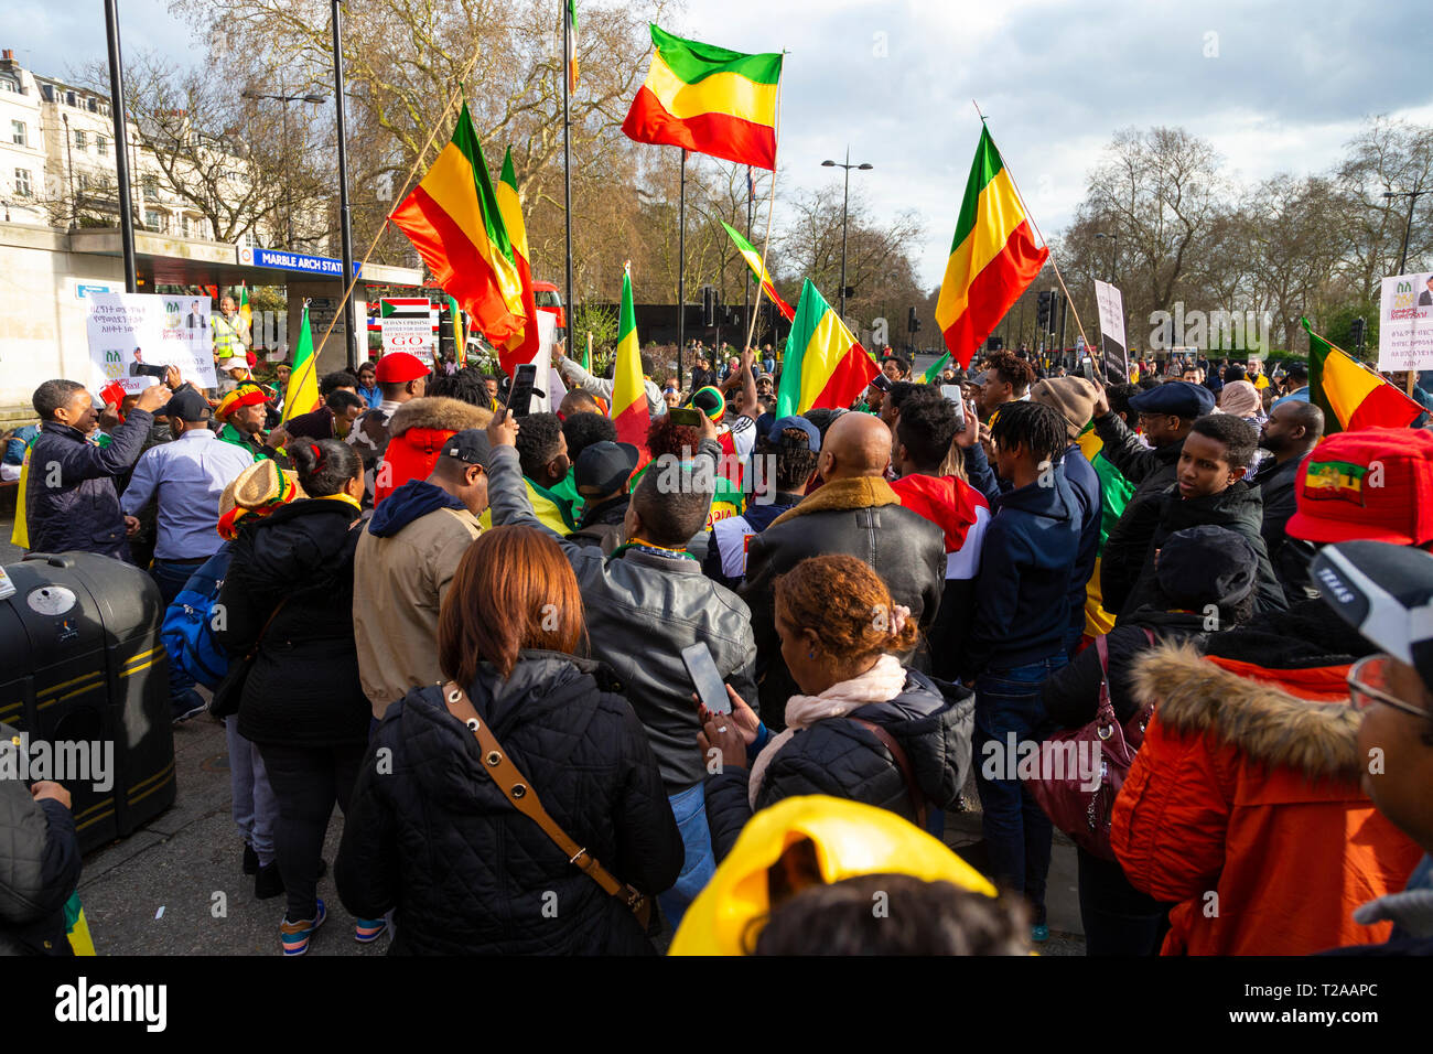
<svg viewBox="0 0 1433 1054">
<path fill-rule="evenodd" d="M 777 575 L 807 556 L 848 554 L 871 565 L 896 604 L 910 608 L 921 630 L 936 618 L 946 582 L 946 536 L 924 516 L 901 508 L 886 482 L 890 456 L 891 433 L 878 417 L 841 414 L 821 443 L 817 462 L 821 488 L 751 539 L 741 597 L 751 608 L 761 716 L 771 728 L 784 727 L 787 700 L 797 693 L 777 637 L 772 597 Z M 913 665 L 930 668 L 924 635 Z"/>
</svg>

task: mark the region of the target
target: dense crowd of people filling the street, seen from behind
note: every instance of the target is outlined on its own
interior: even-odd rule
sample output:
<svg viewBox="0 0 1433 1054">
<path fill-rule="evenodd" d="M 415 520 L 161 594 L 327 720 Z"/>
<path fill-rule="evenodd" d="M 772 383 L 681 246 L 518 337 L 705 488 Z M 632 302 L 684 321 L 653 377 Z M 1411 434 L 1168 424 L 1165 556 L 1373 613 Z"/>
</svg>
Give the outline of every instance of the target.
<svg viewBox="0 0 1433 1054">
<path fill-rule="evenodd" d="M 30 548 L 224 611 L 172 711 L 225 724 L 282 954 L 335 804 L 393 952 L 1025 954 L 1056 829 L 1091 955 L 1433 949 L 1433 433 L 1326 436 L 1301 366 L 1007 350 L 777 417 L 724 351 L 643 361 L 642 445 L 560 346 L 522 417 L 403 353 L 282 423 L 244 377 L 36 390 Z M 0 946 L 63 952 L 67 797 L 4 793 Z"/>
</svg>

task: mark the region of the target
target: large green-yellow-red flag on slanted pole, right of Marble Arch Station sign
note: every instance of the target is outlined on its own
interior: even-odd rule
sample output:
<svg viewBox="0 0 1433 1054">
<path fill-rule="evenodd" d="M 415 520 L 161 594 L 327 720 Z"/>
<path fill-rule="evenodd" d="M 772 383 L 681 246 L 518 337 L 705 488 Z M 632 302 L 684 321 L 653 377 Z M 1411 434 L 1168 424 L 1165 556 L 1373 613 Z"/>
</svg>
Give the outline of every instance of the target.
<svg viewBox="0 0 1433 1054">
<path fill-rule="evenodd" d="M 522 278 L 466 102 L 453 141 L 388 218 L 490 341 L 522 333 Z"/>
</svg>

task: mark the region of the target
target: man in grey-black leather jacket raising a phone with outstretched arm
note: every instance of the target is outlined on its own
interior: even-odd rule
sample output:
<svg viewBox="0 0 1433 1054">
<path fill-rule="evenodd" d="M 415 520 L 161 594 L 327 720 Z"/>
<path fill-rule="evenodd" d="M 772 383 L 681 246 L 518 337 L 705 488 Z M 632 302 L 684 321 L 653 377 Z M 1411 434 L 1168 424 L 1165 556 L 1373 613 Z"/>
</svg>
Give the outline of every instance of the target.
<svg viewBox="0 0 1433 1054">
<path fill-rule="evenodd" d="M 537 521 L 514 447 L 517 422 L 499 414 L 487 429 L 493 446 L 487 465 L 493 523 L 537 528 L 562 545 L 582 589 L 592 657 L 612 667 L 622 681 L 662 770 L 686 845 L 681 878 L 659 898 L 674 929 L 715 872 L 702 794 L 706 767 L 696 746 L 701 723 L 682 648 L 706 644 L 722 680 L 742 698 L 757 695 L 751 612 L 737 594 L 706 578 L 685 551 L 686 539 L 706 521 L 711 479 L 721 460 L 715 426 L 705 414 L 702 423 L 694 462 L 711 459 L 705 486 L 704 473 L 695 467 L 679 469 L 668 459 L 653 462 L 633 488 L 623 521 L 626 542 L 610 556 L 600 548 L 576 545 Z M 939 539 L 940 532 L 936 535 Z"/>
</svg>

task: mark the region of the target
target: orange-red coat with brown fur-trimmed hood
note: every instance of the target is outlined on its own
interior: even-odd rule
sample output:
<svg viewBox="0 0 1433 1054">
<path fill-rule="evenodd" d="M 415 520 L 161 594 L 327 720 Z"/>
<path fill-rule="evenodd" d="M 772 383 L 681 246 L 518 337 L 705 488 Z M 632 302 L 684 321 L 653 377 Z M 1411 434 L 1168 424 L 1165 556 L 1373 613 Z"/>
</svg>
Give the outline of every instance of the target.
<svg viewBox="0 0 1433 1054">
<path fill-rule="evenodd" d="M 1353 911 L 1401 889 L 1420 850 L 1360 789 L 1347 667 L 1283 674 L 1241 677 L 1169 645 L 1136 664 L 1135 694 L 1155 716 L 1115 799 L 1111 846 L 1136 889 L 1174 903 L 1165 955 L 1387 939 L 1387 925 L 1358 925 Z"/>
</svg>

